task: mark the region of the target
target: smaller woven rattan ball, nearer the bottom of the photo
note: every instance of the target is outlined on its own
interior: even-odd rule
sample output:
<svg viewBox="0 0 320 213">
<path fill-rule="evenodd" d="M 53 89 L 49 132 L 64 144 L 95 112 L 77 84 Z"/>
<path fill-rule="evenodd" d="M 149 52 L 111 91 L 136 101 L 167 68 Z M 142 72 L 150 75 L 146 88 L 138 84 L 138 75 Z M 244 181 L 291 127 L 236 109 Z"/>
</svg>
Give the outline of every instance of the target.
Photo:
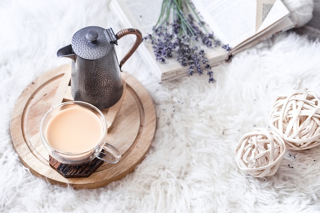
<svg viewBox="0 0 320 213">
<path fill-rule="evenodd" d="M 239 169 L 249 175 L 270 176 L 277 172 L 285 151 L 285 143 L 277 132 L 257 128 L 239 140 L 236 161 Z"/>
</svg>

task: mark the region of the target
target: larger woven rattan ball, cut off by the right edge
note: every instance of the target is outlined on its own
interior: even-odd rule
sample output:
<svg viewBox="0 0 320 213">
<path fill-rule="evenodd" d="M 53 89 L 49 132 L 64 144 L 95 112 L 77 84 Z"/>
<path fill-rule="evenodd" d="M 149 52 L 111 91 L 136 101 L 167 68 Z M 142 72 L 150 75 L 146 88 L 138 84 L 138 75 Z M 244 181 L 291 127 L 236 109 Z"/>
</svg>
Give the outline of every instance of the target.
<svg viewBox="0 0 320 213">
<path fill-rule="evenodd" d="M 284 139 L 288 148 L 305 150 L 320 141 L 320 100 L 308 89 L 278 97 L 269 124 Z"/>
</svg>

